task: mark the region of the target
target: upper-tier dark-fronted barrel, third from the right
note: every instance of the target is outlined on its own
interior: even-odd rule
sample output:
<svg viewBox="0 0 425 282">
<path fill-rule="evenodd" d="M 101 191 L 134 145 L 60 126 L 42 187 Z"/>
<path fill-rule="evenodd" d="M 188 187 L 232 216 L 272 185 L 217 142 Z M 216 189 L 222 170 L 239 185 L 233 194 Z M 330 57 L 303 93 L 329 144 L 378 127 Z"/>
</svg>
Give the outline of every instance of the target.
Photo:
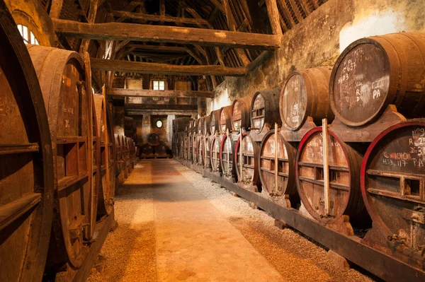
<svg viewBox="0 0 425 282">
<path fill-rule="evenodd" d="M 266 132 L 277 123 L 282 123 L 279 117 L 280 90 L 262 90 L 254 94 L 251 102 L 251 127 L 256 134 Z"/>
</svg>

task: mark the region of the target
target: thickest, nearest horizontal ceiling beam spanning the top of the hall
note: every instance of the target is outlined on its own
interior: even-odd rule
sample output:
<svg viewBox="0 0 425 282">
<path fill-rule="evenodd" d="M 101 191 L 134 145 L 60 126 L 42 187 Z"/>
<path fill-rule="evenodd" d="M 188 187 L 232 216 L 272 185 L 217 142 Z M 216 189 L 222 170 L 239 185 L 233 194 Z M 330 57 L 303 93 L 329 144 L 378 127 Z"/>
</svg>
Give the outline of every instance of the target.
<svg viewBox="0 0 425 282">
<path fill-rule="evenodd" d="M 141 42 L 173 42 L 192 45 L 246 49 L 276 49 L 282 36 L 239 33 L 227 30 L 182 28 L 132 23 L 79 23 L 52 19 L 55 30 L 67 37 L 97 40 L 132 40 Z"/>
</svg>

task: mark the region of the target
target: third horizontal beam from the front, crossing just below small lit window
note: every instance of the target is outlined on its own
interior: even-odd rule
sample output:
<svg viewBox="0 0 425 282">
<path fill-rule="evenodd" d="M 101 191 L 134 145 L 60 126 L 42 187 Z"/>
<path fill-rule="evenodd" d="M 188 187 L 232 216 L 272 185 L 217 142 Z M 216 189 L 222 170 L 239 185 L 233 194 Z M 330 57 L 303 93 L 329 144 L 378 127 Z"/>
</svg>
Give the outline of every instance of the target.
<svg viewBox="0 0 425 282">
<path fill-rule="evenodd" d="M 139 90 L 108 88 L 108 95 L 120 97 L 168 97 L 168 98 L 214 98 L 214 91 L 178 91 L 178 90 Z"/>
</svg>

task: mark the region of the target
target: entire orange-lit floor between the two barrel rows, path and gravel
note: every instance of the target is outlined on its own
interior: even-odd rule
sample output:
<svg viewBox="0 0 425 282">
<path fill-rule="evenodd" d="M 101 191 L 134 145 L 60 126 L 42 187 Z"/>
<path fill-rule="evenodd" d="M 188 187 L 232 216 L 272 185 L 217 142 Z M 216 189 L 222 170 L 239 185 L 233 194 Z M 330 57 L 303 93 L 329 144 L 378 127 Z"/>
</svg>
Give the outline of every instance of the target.
<svg viewBox="0 0 425 282">
<path fill-rule="evenodd" d="M 371 281 L 175 160 L 142 160 L 89 281 Z"/>
</svg>

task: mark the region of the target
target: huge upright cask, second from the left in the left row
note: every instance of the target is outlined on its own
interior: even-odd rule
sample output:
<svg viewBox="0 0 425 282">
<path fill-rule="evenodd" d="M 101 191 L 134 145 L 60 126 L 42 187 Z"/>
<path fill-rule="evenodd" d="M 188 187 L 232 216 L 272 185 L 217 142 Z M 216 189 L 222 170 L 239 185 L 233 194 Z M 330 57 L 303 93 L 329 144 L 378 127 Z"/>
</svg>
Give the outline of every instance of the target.
<svg viewBox="0 0 425 282">
<path fill-rule="evenodd" d="M 89 253 L 97 187 L 91 153 L 91 85 L 77 52 L 27 45 L 49 119 L 55 165 L 55 240 L 48 263 L 78 268 Z"/>
</svg>

